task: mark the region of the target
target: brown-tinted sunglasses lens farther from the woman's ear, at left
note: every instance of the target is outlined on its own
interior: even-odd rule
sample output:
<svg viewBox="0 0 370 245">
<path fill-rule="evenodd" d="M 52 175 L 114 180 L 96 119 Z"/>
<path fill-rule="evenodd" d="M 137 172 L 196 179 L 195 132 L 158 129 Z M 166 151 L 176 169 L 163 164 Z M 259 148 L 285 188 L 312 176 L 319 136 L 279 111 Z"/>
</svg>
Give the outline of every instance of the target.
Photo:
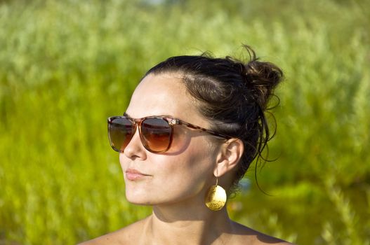
<svg viewBox="0 0 370 245">
<path fill-rule="evenodd" d="M 127 118 L 114 118 L 108 124 L 110 146 L 112 146 L 114 151 L 124 152 L 133 134 L 135 134 L 135 128 L 133 123 Z"/>
</svg>

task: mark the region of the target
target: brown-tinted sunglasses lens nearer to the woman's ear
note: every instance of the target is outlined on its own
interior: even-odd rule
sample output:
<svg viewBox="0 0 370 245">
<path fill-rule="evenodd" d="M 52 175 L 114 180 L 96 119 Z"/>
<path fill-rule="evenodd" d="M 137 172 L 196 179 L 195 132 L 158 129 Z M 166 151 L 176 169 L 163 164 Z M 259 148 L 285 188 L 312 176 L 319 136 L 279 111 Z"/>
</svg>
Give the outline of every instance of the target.
<svg viewBox="0 0 370 245">
<path fill-rule="evenodd" d="M 143 145 L 148 151 L 163 152 L 171 144 L 172 128 L 161 118 L 148 118 L 141 123 Z"/>
</svg>

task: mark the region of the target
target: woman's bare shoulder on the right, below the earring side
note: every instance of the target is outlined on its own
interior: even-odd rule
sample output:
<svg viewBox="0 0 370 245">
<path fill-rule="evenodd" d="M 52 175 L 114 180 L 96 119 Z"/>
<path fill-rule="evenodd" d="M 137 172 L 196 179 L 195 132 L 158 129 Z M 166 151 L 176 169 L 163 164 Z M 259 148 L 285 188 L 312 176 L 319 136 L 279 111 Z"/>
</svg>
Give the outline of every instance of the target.
<svg viewBox="0 0 370 245">
<path fill-rule="evenodd" d="M 271 237 L 269 235 L 265 235 L 261 232 L 248 228 L 244 225 L 239 223 L 234 223 L 234 232 L 237 235 L 239 242 L 237 244 L 253 244 L 253 245 L 260 245 L 260 244 L 279 244 L 279 245 L 291 245 L 288 241 L 284 241 L 282 239 L 278 239 L 276 237 Z"/>
</svg>

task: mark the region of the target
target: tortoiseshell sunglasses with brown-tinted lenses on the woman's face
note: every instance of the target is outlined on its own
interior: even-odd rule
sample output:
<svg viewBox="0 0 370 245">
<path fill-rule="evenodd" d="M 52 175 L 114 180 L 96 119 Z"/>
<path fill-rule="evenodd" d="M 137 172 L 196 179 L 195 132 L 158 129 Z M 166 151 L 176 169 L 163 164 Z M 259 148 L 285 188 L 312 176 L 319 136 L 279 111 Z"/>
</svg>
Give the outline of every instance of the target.
<svg viewBox="0 0 370 245">
<path fill-rule="evenodd" d="M 231 138 L 225 134 L 206 130 L 203 127 L 169 116 L 148 116 L 137 119 L 128 116 L 113 116 L 108 118 L 110 146 L 114 151 L 123 153 L 136 129 L 139 128 L 140 141 L 144 148 L 152 153 L 164 153 L 171 147 L 174 125 L 184 125 L 193 130 L 207 132 L 215 137 Z"/>
</svg>

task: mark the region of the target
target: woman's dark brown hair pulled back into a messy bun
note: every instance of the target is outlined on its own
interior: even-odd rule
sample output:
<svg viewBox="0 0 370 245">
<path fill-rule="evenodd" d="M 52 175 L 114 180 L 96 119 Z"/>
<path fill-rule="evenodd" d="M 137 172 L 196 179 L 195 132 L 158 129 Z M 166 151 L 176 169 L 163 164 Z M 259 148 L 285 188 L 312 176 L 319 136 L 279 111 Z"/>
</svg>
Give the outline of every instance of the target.
<svg viewBox="0 0 370 245">
<path fill-rule="evenodd" d="M 249 60 L 233 57 L 215 58 L 204 53 L 198 56 L 176 56 L 152 67 L 149 73 L 180 73 L 187 91 L 199 102 L 199 112 L 211 122 L 211 129 L 241 139 L 244 154 L 232 185 L 242 179 L 251 162 L 263 158 L 263 149 L 273 137 L 265 112 L 283 72 L 270 62 L 261 62 L 247 45 Z M 256 174 L 256 170 L 255 170 Z"/>
</svg>

